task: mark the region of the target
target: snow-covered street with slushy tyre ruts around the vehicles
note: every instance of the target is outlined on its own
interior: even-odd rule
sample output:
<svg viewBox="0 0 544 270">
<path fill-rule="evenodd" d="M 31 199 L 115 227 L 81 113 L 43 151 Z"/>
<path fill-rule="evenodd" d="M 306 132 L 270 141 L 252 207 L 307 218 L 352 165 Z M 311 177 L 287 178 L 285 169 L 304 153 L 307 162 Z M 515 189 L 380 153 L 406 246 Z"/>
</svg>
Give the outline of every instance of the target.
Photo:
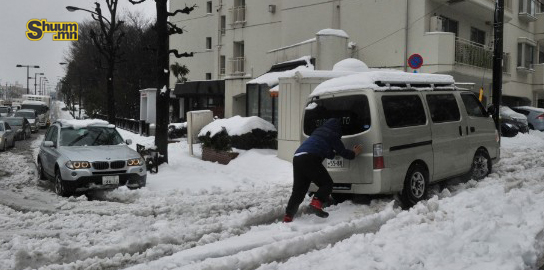
<svg viewBox="0 0 544 270">
<path fill-rule="evenodd" d="M 153 144 L 119 132 L 133 148 Z M 0 269 L 517 270 L 544 254 L 538 131 L 503 138 L 489 177 L 434 187 L 409 210 L 386 196 L 332 206 L 327 219 L 301 209 L 290 224 L 292 168 L 274 150 L 240 150 L 224 166 L 172 143 L 145 188 L 62 198 L 37 179 L 34 137 L 26 152 L 0 153 Z"/>
</svg>

